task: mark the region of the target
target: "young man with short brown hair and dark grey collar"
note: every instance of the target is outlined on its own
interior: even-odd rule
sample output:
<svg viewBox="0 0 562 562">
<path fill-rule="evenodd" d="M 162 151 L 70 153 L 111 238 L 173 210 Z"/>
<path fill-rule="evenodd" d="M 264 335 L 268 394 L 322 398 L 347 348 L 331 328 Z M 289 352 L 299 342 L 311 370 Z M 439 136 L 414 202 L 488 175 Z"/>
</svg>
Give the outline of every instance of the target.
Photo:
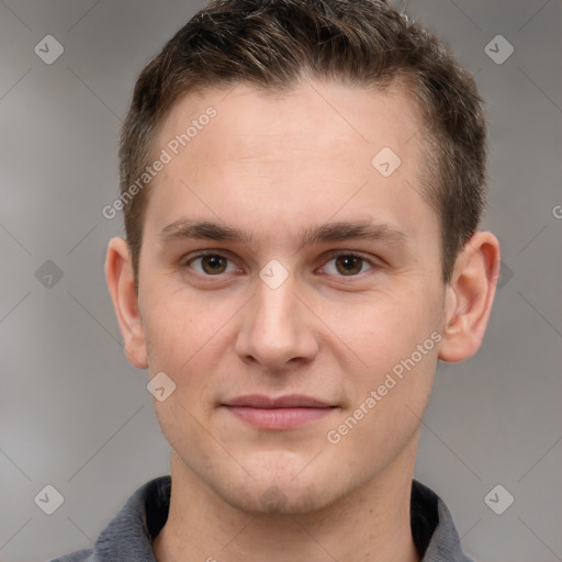
<svg viewBox="0 0 562 562">
<path fill-rule="evenodd" d="M 413 472 L 498 276 L 470 75 L 380 1 L 216 1 L 140 74 L 120 156 L 105 273 L 171 479 L 58 560 L 469 560 Z"/>
</svg>

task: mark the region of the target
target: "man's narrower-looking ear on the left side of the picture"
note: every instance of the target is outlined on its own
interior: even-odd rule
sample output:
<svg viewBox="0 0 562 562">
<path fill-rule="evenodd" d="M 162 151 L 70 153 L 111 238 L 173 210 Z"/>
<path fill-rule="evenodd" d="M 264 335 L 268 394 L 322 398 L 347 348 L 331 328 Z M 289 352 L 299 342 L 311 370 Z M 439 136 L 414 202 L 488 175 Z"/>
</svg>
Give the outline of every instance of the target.
<svg viewBox="0 0 562 562">
<path fill-rule="evenodd" d="M 138 310 L 133 265 L 128 244 L 123 238 L 112 238 L 105 257 L 105 279 L 117 315 L 121 336 L 125 342 L 125 355 L 138 369 L 148 367 L 146 341 Z"/>
</svg>

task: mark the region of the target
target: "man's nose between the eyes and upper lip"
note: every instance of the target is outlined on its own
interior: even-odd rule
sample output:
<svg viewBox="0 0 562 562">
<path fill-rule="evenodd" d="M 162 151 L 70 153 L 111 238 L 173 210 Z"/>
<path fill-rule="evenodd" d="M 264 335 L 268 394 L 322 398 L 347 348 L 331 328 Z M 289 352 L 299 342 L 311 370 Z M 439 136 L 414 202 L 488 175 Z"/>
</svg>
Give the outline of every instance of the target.
<svg viewBox="0 0 562 562">
<path fill-rule="evenodd" d="M 317 323 L 305 299 L 296 292 L 293 276 L 277 288 L 258 280 L 256 294 L 244 308 L 236 341 L 240 360 L 280 371 L 316 356 Z"/>
</svg>

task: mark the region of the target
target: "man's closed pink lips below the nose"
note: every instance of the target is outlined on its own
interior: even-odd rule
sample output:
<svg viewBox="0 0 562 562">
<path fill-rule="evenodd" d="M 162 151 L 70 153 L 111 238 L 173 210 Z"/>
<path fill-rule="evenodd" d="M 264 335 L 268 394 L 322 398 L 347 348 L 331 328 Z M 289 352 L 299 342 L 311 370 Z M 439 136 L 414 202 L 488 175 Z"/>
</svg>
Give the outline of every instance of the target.
<svg viewBox="0 0 562 562">
<path fill-rule="evenodd" d="M 272 398 L 261 394 L 237 396 L 223 404 L 243 422 L 269 430 L 288 430 L 302 427 L 330 414 L 335 406 L 318 398 L 291 394 Z"/>
</svg>

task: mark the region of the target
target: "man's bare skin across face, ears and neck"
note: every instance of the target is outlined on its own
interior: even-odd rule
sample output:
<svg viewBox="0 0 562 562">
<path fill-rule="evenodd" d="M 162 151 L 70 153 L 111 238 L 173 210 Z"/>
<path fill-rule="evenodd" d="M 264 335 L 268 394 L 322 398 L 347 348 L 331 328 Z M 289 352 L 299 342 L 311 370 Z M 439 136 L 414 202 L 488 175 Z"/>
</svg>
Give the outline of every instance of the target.
<svg viewBox="0 0 562 562">
<path fill-rule="evenodd" d="M 167 116 L 155 157 L 210 105 L 217 115 L 150 186 L 138 294 L 124 239 L 110 241 L 105 263 L 128 360 L 176 384 L 167 400 L 154 400 L 172 476 L 155 555 L 419 560 L 409 495 L 420 418 L 437 360 L 461 361 L 480 347 L 498 241 L 474 234 L 443 285 L 439 217 L 413 189 L 420 121 L 398 87 L 383 93 L 305 81 L 283 95 L 243 85 L 192 93 Z M 385 146 L 402 160 L 387 178 L 371 165 Z M 244 229 L 251 245 L 165 243 L 160 231 L 179 218 Z M 358 220 L 386 224 L 406 243 L 301 246 L 304 228 Z M 201 249 L 227 259 L 189 265 Z M 364 258 L 351 273 L 342 263 L 349 251 Z M 277 289 L 259 276 L 273 259 L 289 273 Z M 432 333 L 438 345 L 329 442 L 327 432 Z M 221 407 L 243 394 L 305 394 L 336 407 L 296 429 L 257 429 Z"/>
</svg>

